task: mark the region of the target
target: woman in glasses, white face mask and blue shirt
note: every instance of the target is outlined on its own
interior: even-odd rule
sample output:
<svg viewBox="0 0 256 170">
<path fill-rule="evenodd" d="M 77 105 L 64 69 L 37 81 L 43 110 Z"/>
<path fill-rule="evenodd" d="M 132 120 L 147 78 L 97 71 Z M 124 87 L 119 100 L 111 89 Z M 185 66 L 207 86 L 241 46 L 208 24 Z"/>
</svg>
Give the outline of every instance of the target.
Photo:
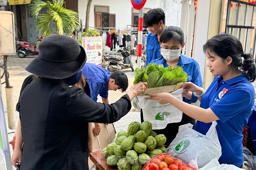
<svg viewBox="0 0 256 170">
<path fill-rule="evenodd" d="M 163 64 L 164 67 L 180 66 L 188 74 L 188 80 L 199 87 L 203 87 L 203 81 L 200 74 L 200 68 L 196 60 L 188 58 L 181 54 L 181 50 L 184 47 L 184 33 L 180 27 L 166 27 L 162 35 L 160 36 L 160 52 L 162 58 L 152 60 L 150 63 Z M 192 92 L 184 92 L 182 94 L 183 101 L 186 103 L 195 103 L 197 97 Z M 141 110 L 141 121 L 143 121 L 143 114 Z M 154 130 L 157 134 L 164 134 L 167 138 L 165 143 L 166 146 L 169 146 L 172 140 L 176 137 L 180 125 L 191 123 L 195 125 L 195 119 L 187 116 L 183 113 L 182 120 L 179 123 L 168 124 L 165 129 Z M 171 132 L 171 133 L 170 133 Z"/>
</svg>

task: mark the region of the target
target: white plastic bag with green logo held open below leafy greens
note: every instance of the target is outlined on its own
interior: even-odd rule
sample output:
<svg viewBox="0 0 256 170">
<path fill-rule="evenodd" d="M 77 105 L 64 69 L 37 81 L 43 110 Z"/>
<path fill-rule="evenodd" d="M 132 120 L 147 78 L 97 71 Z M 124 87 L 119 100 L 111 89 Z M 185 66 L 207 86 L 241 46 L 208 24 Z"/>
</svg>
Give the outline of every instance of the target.
<svg viewBox="0 0 256 170">
<path fill-rule="evenodd" d="M 170 94 L 182 100 L 182 89 L 178 89 Z M 182 112 L 172 104 L 160 104 L 156 100 L 145 99 L 148 96 L 138 96 L 138 103 L 143 111 L 144 121 L 152 123 L 152 129 L 164 129 L 168 123 L 180 122 Z"/>
</svg>

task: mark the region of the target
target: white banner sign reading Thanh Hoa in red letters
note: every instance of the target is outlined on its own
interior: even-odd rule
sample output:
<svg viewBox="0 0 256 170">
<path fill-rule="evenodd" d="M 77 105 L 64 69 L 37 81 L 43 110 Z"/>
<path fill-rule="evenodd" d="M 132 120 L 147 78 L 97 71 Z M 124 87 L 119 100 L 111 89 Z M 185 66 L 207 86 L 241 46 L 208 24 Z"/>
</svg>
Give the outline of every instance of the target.
<svg viewBox="0 0 256 170">
<path fill-rule="evenodd" d="M 87 56 L 87 63 L 102 64 L 102 37 L 82 37 L 82 47 Z"/>
</svg>

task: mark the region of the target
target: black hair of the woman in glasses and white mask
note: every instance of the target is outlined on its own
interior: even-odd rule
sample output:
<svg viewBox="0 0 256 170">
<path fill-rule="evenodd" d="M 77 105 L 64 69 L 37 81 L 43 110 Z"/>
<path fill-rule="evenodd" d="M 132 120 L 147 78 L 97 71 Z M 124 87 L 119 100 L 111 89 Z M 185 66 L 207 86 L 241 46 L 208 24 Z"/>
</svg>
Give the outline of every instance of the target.
<svg viewBox="0 0 256 170">
<path fill-rule="evenodd" d="M 159 38 L 160 43 L 167 43 L 171 40 L 179 44 L 184 43 L 184 33 L 180 27 L 169 26 L 164 28 Z"/>
</svg>

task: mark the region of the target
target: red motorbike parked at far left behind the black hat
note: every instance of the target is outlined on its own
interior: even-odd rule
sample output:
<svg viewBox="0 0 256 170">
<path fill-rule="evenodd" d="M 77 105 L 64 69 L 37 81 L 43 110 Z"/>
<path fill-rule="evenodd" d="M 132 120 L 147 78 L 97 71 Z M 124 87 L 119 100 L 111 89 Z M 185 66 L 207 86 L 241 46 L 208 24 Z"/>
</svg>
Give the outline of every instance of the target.
<svg viewBox="0 0 256 170">
<path fill-rule="evenodd" d="M 42 41 L 42 38 L 39 37 L 37 41 Z M 39 51 L 36 49 L 36 43 L 28 43 L 25 41 L 16 41 L 17 52 L 19 58 L 25 58 L 26 56 L 38 55 Z"/>
</svg>

